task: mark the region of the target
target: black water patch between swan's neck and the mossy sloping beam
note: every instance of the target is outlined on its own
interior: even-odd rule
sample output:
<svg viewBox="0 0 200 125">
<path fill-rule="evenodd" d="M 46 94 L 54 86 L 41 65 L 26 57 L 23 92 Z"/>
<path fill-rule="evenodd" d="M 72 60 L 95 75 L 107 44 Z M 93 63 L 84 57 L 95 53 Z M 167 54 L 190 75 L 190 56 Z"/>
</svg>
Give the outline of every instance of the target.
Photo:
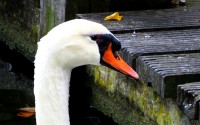
<svg viewBox="0 0 200 125">
<path fill-rule="evenodd" d="M 86 66 L 73 69 L 69 99 L 71 125 L 117 125 L 112 118 L 92 107 L 92 90 L 86 79 Z"/>
</svg>

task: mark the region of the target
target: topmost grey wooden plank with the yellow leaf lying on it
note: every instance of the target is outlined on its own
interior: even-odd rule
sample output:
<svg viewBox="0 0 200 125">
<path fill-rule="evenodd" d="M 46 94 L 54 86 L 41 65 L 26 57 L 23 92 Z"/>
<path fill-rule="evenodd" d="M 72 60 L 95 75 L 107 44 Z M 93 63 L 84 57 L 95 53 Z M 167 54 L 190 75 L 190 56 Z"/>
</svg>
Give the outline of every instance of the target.
<svg viewBox="0 0 200 125">
<path fill-rule="evenodd" d="M 200 5 L 200 2 L 197 2 L 197 5 Z M 199 28 L 200 8 L 197 5 L 162 10 L 120 12 L 123 15 L 121 21 L 104 21 L 104 17 L 112 14 L 111 12 L 77 14 L 77 18 L 99 22 L 115 33 Z"/>
</svg>

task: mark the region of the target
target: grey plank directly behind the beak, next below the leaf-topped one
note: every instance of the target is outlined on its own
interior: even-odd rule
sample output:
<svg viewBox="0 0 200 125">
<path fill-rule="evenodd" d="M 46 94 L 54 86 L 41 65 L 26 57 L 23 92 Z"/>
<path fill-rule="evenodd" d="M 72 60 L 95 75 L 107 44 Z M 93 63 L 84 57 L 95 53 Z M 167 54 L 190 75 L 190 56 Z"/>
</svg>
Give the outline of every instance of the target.
<svg viewBox="0 0 200 125">
<path fill-rule="evenodd" d="M 200 52 L 200 29 L 115 34 L 121 54 L 134 68 L 139 55 Z"/>
</svg>

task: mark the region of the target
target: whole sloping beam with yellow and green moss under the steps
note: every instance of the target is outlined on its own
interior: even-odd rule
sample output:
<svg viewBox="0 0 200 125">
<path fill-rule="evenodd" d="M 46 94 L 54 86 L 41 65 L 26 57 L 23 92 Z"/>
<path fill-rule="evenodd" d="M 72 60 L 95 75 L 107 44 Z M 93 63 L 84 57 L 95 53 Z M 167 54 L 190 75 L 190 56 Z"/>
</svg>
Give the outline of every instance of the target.
<svg viewBox="0 0 200 125">
<path fill-rule="evenodd" d="M 145 84 L 105 67 L 89 66 L 87 72 L 93 91 L 92 104 L 120 125 L 191 124 L 178 108 L 176 100 L 161 99 Z"/>
</svg>

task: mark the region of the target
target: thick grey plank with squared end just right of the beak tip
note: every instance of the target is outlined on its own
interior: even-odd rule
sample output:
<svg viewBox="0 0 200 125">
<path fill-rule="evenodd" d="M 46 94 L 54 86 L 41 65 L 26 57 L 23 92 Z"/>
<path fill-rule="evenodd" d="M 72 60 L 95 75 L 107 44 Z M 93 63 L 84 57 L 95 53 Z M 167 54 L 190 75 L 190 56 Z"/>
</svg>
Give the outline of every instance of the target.
<svg viewBox="0 0 200 125">
<path fill-rule="evenodd" d="M 136 61 L 140 81 L 162 97 L 176 97 L 178 84 L 200 81 L 200 53 L 141 56 Z"/>
</svg>

